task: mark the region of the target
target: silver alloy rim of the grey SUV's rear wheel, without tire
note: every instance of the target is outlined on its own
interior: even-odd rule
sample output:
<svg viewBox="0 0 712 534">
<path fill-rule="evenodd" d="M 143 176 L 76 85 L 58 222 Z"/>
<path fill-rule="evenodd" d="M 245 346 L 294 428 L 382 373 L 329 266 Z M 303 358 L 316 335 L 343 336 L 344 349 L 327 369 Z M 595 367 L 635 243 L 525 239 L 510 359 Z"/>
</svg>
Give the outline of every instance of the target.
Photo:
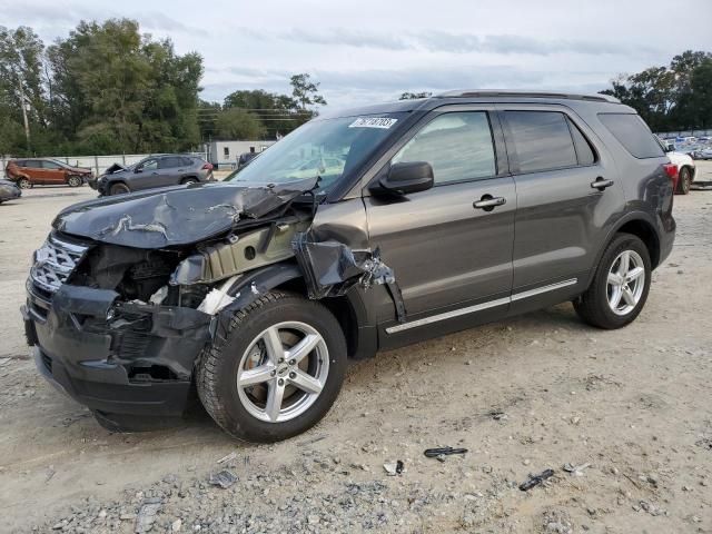
<svg viewBox="0 0 712 534">
<path fill-rule="evenodd" d="M 609 306 L 615 315 L 630 314 L 645 288 L 645 264 L 635 250 L 623 250 L 611 265 L 607 278 Z"/>
</svg>

